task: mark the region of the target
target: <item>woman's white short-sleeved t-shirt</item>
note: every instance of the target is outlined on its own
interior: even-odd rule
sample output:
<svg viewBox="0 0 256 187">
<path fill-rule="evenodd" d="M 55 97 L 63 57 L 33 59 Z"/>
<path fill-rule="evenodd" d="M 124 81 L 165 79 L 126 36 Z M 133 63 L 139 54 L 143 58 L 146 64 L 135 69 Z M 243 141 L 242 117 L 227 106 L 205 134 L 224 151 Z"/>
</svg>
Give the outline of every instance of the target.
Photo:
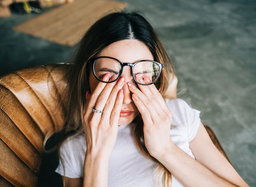
<svg viewBox="0 0 256 187">
<path fill-rule="evenodd" d="M 183 99 L 165 99 L 172 111 L 170 137 L 184 152 L 194 158 L 189 148 L 200 124 L 200 111 L 194 109 Z M 118 127 L 118 135 L 108 164 L 108 187 L 154 187 L 154 171 L 157 163 L 142 156 L 136 149 L 131 133 L 131 126 Z M 174 125 L 178 127 L 174 127 Z M 60 155 L 64 161 L 66 177 L 79 178 L 84 173 L 84 157 L 86 153 L 85 134 L 68 137 L 60 147 Z M 64 175 L 62 163 L 55 170 Z M 172 175 L 172 187 L 183 185 Z"/>
</svg>

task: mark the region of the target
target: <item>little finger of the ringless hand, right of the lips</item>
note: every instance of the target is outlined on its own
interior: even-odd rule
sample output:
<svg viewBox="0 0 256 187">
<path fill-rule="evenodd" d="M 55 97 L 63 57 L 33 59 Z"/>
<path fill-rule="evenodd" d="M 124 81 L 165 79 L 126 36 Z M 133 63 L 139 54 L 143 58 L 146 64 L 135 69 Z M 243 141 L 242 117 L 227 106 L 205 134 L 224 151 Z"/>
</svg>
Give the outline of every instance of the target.
<svg viewBox="0 0 256 187">
<path fill-rule="evenodd" d="M 153 125 L 151 113 L 148 110 L 148 108 L 144 105 L 144 103 L 141 101 L 141 99 L 136 94 L 132 94 L 132 99 L 134 101 L 134 104 L 138 108 L 139 112 L 141 113 L 141 117 L 143 119 L 144 125 L 148 125 L 148 127 L 151 127 Z"/>
</svg>

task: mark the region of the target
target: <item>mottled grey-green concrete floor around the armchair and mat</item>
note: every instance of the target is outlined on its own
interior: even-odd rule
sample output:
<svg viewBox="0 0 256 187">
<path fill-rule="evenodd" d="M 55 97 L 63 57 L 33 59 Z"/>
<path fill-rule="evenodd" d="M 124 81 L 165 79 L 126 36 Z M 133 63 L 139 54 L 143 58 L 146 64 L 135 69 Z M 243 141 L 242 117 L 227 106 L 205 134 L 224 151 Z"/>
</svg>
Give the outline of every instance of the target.
<svg viewBox="0 0 256 187">
<path fill-rule="evenodd" d="M 256 186 L 256 1 L 124 2 L 152 22 L 174 61 L 178 96 L 201 111 L 236 171 Z M 0 75 L 70 60 L 72 47 L 12 31 L 34 16 L 0 18 Z"/>
</svg>

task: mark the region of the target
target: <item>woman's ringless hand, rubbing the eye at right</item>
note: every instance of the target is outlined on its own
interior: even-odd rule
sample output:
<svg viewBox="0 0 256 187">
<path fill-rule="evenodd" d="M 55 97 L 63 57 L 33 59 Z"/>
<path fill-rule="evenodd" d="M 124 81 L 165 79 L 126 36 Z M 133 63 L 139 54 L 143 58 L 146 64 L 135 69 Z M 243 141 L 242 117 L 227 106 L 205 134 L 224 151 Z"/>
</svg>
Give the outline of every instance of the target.
<svg viewBox="0 0 256 187">
<path fill-rule="evenodd" d="M 142 84 L 151 82 L 146 75 L 142 77 L 136 79 Z M 172 111 L 167 107 L 154 84 L 149 86 L 138 84 L 139 89 L 131 82 L 127 82 L 127 84 L 133 93 L 132 99 L 142 115 L 146 148 L 150 155 L 158 159 L 173 145 L 170 138 Z"/>
</svg>

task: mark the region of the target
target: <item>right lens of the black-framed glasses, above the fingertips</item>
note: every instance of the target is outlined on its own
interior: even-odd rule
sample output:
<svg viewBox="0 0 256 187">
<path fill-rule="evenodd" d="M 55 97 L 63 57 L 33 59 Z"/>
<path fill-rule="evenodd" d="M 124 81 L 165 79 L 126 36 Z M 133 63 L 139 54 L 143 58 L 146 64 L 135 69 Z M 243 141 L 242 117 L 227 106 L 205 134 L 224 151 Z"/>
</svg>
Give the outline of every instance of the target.
<svg viewBox="0 0 256 187">
<path fill-rule="evenodd" d="M 159 70 L 160 67 L 155 62 L 142 61 L 134 66 L 133 73 L 137 82 L 140 82 L 139 79 L 143 80 L 143 75 L 146 75 L 151 82 L 154 82 L 159 74 Z"/>
</svg>

